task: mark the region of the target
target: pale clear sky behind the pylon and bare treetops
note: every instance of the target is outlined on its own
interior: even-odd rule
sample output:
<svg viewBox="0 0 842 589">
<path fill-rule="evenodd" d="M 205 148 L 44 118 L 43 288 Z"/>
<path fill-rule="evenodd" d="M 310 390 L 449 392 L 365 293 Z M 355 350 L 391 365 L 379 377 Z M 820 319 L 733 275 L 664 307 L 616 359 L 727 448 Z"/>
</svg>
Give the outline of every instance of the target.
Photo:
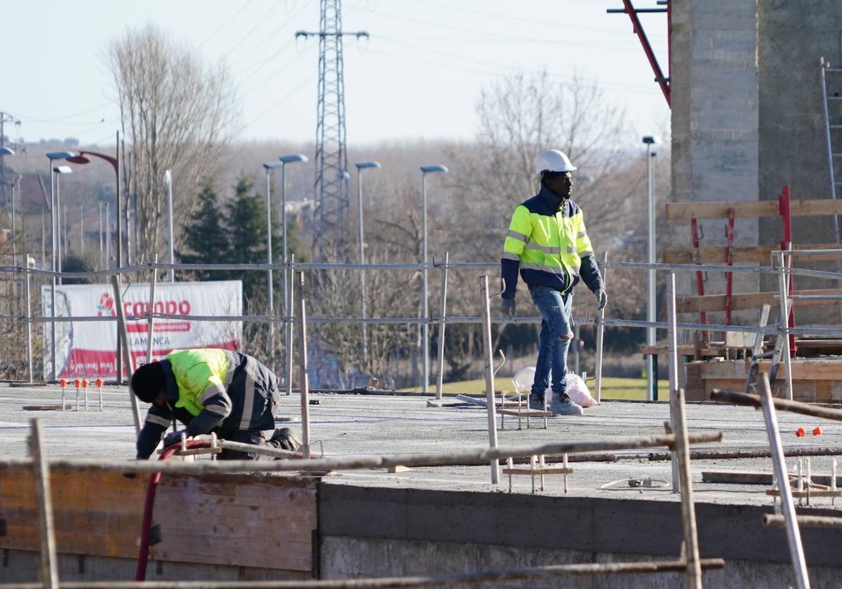
<svg viewBox="0 0 842 589">
<path fill-rule="evenodd" d="M 654 0 L 638 0 L 653 8 Z M 626 108 L 632 136 L 669 132 L 669 109 L 632 25 L 607 14 L 621 0 L 345 0 L 349 143 L 474 134 L 482 88 L 517 69 L 564 81 L 578 72 Z M 127 27 L 158 24 L 211 61 L 225 60 L 241 106 L 242 140 L 312 141 L 318 0 L 47 0 L 3 4 L 0 111 L 7 135 L 109 143 L 119 127 L 105 45 Z M 642 15 L 666 71 L 666 16 Z"/>
</svg>

